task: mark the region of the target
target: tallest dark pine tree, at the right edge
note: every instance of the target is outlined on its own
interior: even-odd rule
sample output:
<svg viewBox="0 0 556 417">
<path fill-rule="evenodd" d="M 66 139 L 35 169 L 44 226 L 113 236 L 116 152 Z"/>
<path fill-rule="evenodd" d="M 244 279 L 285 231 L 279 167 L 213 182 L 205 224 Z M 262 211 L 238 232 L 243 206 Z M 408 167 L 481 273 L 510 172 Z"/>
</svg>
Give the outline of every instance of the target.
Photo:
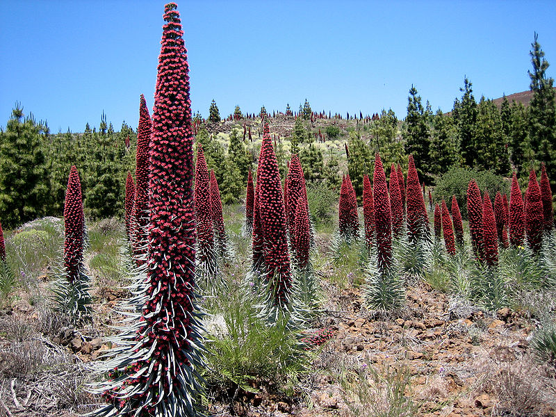
<svg viewBox="0 0 556 417">
<path fill-rule="evenodd" d="M 546 173 L 550 178 L 550 187 L 556 191 L 556 104 L 554 97 L 554 79 L 547 78 L 548 61 L 538 42 L 539 35 L 534 34 L 530 51 L 533 71 L 529 73 L 533 93 L 529 105 L 529 136 L 535 153 L 536 165 L 546 164 Z"/>
</svg>

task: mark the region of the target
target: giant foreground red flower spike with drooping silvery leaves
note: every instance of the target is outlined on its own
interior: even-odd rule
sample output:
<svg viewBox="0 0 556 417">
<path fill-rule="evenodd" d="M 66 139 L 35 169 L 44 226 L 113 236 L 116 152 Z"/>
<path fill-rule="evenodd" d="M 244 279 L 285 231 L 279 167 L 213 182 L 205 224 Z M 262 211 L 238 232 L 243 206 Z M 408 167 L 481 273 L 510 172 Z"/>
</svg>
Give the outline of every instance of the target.
<svg viewBox="0 0 556 417">
<path fill-rule="evenodd" d="M 183 31 L 165 6 L 150 145 L 147 302 L 136 333 L 116 347 L 109 404 L 96 416 L 196 416 L 202 337 L 195 307 L 193 133 Z"/>
</svg>

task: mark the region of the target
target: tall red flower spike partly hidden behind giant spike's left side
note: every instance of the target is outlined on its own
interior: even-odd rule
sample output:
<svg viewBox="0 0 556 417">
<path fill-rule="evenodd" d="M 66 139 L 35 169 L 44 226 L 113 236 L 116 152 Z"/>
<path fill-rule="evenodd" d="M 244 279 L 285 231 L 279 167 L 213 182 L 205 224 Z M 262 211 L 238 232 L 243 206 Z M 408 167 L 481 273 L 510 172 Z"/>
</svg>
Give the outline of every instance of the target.
<svg viewBox="0 0 556 417">
<path fill-rule="evenodd" d="M 133 230 L 133 254 L 137 265 L 147 257 L 147 227 L 149 224 L 149 143 L 152 136 L 152 120 L 147 101 L 141 95 L 139 102 L 139 125 L 137 127 L 137 152 L 135 168 L 135 204 L 131 216 Z"/>
</svg>

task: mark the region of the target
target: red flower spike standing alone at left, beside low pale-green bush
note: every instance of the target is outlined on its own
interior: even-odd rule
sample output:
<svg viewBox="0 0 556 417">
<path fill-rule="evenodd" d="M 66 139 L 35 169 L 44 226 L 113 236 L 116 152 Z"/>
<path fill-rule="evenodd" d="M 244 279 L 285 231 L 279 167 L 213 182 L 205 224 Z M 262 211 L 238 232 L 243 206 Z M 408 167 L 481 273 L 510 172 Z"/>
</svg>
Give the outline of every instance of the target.
<svg viewBox="0 0 556 417">
<path fill-rule="evenodd" d="M 67 280 L 74 283 L 79 279 L 79 268 L 83 262 L 83 195 L 81 181 L 75 165 L 72 165 L 70 177 L 67 179 L 67 191 L 64 204 L 65 244 L 64 267 Z"/>
</svg>

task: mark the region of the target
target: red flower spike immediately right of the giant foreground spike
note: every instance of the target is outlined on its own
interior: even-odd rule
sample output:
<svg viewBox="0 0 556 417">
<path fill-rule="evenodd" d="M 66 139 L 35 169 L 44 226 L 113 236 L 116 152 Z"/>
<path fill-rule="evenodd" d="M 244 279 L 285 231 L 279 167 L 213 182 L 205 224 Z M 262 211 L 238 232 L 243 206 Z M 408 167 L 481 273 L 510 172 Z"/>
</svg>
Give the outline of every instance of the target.
<svg viewBox="0 0 556 417">
<path fill-rule="evenodd" d="M 197 219 L 197 270 L 202 277 L 211 279 L 215 277 L 217 270 L 211 179 L 200 142 L 197 143 L 197 164 L 195 165 L 195 218 Z"/>
</svg>

